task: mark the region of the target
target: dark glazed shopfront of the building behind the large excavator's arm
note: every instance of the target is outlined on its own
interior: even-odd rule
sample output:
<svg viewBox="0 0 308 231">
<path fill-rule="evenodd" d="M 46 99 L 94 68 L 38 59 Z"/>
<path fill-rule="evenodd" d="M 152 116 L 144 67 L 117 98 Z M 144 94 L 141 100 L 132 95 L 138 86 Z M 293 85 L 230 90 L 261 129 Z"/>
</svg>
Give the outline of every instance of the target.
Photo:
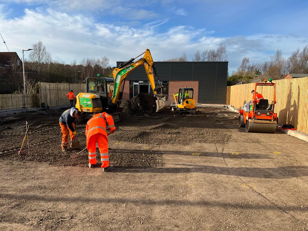
<svg viewBox="0 0 308 231">
<path fill-rule="evenodd" d="M 164 86 L 164 94 L 167 95 L 168 98 L 168 91 L 169 91 L 169 81 L 161 82 Z M 152 87 L 149 81 L 129 81 L 129 99 L 132 99 L 139 93 L 148 93 L 153 95 Z"/>
</svg>

